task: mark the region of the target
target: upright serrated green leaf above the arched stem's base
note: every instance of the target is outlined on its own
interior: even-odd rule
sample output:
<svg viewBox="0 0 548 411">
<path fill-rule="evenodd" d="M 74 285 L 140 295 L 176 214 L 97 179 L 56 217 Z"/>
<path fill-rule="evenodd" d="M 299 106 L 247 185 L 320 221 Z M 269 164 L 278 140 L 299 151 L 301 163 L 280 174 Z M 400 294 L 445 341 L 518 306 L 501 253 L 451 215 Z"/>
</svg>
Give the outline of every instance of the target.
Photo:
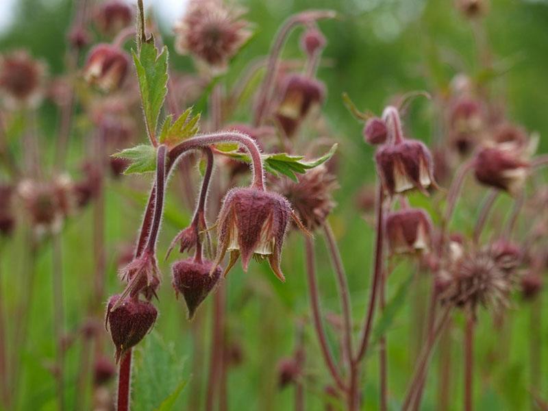
<svg viewBox="0 0 548 411">
<path fill-rule="evenodd" d="M 141 45 L 139 54 L 132 50 L 141 92 L 142 110 L 145 112 L 147 132 L 155 134 L 158 116 L 167 93 L 167 47 L 158 49 L 149 43 Z"/>
</svg>

